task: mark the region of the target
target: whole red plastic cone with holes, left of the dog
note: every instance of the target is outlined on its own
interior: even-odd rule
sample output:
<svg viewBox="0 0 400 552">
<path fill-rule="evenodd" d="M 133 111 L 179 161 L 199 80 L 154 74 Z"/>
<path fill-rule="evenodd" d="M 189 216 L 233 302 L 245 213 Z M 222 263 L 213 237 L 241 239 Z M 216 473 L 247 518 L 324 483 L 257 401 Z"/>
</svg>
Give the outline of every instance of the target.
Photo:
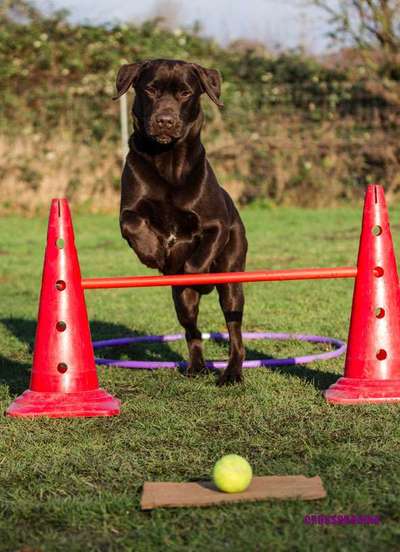
<svg viewBox="0 0 400 552">
<path fill-rule="evenodd" d="M 30 389 L 9 416 L 113 416 L 119 400 L 99 389 L 92 340 L 66 199 L 53 199 Z"/>
</svg>

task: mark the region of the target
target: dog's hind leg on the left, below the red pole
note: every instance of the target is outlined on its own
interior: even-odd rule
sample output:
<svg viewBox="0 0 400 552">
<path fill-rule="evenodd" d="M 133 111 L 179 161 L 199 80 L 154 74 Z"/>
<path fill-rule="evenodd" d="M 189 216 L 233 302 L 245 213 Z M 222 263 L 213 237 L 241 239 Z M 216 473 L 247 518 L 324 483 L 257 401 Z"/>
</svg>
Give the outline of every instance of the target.
<svg viewBox="0 0 400 552">
<path fill-rule="evenodd" d="M 188 376 L 206 373 L 203 358 L 201 332 L 197 327 L 200 293 L 190 287 L 173 287 L 172 297 L 178 320 L 185 329 L 186 342 L 189 349 Z"/>
</svg>

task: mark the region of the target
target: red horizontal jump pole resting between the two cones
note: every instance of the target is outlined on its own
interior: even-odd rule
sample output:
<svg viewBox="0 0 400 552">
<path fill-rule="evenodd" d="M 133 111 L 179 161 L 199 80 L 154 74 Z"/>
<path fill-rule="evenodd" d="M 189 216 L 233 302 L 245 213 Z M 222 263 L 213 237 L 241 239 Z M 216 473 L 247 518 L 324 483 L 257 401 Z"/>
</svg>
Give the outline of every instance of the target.
<svg viewBox="0 0 400 552">
<path fill-rule="evenodd" d="M 173 276 L 126 276 L 117 278 L 82 278 L 83 289 L 109 289 L 155 286 L 196 286 L 228 282 L 283 282 L 288 280 L 322 280 L 355 278 L 357 268 L 293 268 L 289 270 L 259 270 L 256 272 L 215 272 L 208 274 L 178 274 Z"/>
</svg>

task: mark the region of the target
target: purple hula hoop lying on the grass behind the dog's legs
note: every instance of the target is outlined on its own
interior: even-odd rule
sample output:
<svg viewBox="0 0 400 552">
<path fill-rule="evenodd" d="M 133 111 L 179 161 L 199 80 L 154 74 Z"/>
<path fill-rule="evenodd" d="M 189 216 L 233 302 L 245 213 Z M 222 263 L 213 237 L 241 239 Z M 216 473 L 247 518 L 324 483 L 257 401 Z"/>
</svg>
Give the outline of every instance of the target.
<svg viewBox="0 0 400 552">
<path fill-rule="evenodd" d="M 229 336 L 227 333 L 203 333 L 203 339 L 212 339 L 213 341 L 227 341 Z M 273 339 L 273 340 L 297 340 L 306 341 L 308 343 L 325 343 L 335 349 L 325 353 L 316 353 L 313 355 L 304 355 L 288 358 L 261 358 L 258 360 L 245 360 L 243 368 L 261 368 L 263 366 L 288 366 L 294 364 L 308 364 L 318 360 L 329 360 L 342 355 L 346 350 L 346 343 L 333 337 L 324 337 L 320 335 L 303 335 L 295 333 L 272 333 L 272 332 L 244 332 L 243 338 L 246 340 L 257 339 Z M 120 347 L 122 345 L 130 345 L 131 343 L 167 343 L 171 341 L 179 341 L 184 339 L 183 334 L 171 335 L 143 335 L 134 337 L 122 337 L 117 339 L 106 339 L 102 341 L 94 341 L 94 349 L 103 349 L 106 347 Z M 112 358 L 96 358 L 96 364 L 107 366 L 115 366 L 119 368 L 134 368 L 137 370 L 157 370 L 159 368 L 186 368 L 186 361 L 150 361 L 150 360 L 119 360 Z M 221 360 L 207 360 L 207 368 L 221 370 L 226 368 L 227 362 Z"/>
</svg>

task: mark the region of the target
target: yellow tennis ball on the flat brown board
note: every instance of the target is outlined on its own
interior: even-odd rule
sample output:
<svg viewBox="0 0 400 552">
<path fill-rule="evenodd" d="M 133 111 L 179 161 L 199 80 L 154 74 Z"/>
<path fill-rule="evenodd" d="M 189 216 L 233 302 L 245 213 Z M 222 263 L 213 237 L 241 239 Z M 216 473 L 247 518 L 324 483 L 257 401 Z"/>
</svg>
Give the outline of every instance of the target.
<svg viewBox="0 0 400 552">
<path fill-rule="evenodd" d="M 238 454 L 227 454 L 216 462 L 213 481 L 224 493 L 241 493 L 250 485 L 253 470 L 250 464 Z"/>
</svg>

